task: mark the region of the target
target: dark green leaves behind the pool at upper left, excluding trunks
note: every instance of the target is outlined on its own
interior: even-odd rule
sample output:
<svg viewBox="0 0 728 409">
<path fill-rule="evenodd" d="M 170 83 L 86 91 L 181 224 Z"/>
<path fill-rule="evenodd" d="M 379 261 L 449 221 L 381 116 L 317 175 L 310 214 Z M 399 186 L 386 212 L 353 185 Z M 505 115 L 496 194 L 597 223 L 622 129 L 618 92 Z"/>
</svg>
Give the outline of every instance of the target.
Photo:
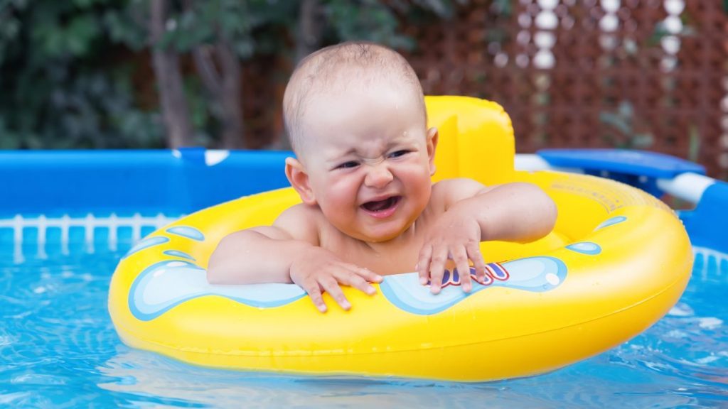
<svg viewBox="0 0 728 409">
<path fill-rule="evenodd" d="M 320 0 L 324 42 L 366 39 L 412 49 L 403 20 L 448 18 L 464 1 Z M 164 146 L 159 108 L 141 103 L 133 81 L 149 69 L 140 64 L 149 64 L 150 47 L 186 55 L 224 41 L 242 60 L 293 55 L 298 1 L 170 4 L 165 36 L 150 44 L 150 0 L 0 0 L 0 148 Z M 212 104 L 194 70 L 184 74 L 197 142 L 210 145 L 218 132 Z"/>
</svg>

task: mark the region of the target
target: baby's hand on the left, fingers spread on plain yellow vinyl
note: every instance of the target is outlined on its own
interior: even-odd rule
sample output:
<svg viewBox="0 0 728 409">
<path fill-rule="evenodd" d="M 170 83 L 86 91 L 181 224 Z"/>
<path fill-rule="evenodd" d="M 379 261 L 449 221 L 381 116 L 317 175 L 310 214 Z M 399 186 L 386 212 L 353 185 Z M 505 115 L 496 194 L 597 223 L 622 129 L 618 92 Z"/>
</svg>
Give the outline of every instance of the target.
<svg viewBox="0 0 728 409">
<path fill-rule="evenodd" d="M 321 312 L 326 312 L 322 291 L 328 292 L 342 309 L 349 310 L 352 305 L 341 291 L 340 284 L 373 295 L 376 290 L 369 282 L 382 280 L 379 274 L 351 263 L 344 263 L 336 255 L 321 247 L 306 250 L 301 257 L 291 263 L 290 279 L 309 294 Z"/>
</svg>

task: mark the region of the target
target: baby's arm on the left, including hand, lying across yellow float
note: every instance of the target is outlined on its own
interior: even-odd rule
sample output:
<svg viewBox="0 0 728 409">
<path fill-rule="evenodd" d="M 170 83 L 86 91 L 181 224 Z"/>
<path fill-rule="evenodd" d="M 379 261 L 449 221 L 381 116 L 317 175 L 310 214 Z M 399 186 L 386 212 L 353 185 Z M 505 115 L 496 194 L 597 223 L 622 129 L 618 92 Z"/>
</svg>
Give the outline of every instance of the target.
<svg viewBox="0 0 728 409">
<path fill-rule="evenodd" d="M 300 210 L 300 209 L 298 209 Z M 293 282 L 309 294 L 324 312 L 322 290 L 343 309 L 350 309 L 339 284 L 364 293 L 375 292 L 368 281 L 381 282 L 372 271 L 344 263 L 328 250 L 315 245 L 315 226 L 301 218 L 295 207 L 284 212 L 273 226 L 236 231 L 223 237 L 210 256 L 207 281 L 210 284 L 258 284 Z"/>
</svg>

